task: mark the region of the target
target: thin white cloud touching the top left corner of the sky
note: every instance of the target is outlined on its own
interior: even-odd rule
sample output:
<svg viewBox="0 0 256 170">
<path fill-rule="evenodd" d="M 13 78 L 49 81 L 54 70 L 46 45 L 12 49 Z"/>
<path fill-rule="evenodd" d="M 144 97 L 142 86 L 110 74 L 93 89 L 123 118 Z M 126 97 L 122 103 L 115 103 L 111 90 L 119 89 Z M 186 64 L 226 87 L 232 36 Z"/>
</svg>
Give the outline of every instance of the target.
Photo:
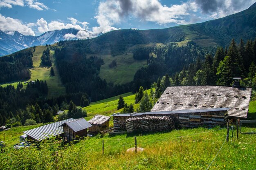
<svg viewBox="0 0 256 170">
<path fill-rule="evenodd" d="M 13 5 L 25 7 L 28 6 L 29 8 L 33 8 L 39 11 L 48 10 L 47 7 L 42 2 L 38 2 L 38 0 L 0 0 L 0 8 L 7 7 L 12 8 Z"/>
</svg>

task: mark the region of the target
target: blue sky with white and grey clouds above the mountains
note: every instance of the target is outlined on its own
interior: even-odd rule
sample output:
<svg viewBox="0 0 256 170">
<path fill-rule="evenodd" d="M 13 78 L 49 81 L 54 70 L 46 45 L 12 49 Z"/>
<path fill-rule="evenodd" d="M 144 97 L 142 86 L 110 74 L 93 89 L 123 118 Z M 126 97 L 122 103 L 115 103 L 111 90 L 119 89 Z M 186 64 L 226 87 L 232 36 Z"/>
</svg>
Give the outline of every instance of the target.
<svg viewBox="0 0 256 170">
<path fill-rule="evenodd" d="M 222 18 L 255 0 L 0 0 L 0 30 L 41 35 L 76 28 L 81 39 L 115 29 L 159 29 Z M 84 31 L 86 30 L 86 31 Z M 90 33 L 90 35 L 88 35 Z M 69 36 L 74 35 L 67 35 Z"/>
</svg>

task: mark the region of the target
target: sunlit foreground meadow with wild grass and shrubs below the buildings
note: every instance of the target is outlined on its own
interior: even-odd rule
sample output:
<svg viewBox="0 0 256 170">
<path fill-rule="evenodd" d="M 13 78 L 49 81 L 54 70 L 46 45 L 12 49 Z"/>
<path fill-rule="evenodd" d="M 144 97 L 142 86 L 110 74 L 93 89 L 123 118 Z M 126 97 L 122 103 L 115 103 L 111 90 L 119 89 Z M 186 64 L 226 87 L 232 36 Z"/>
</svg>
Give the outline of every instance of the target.
<svg viewBox="0 0 256 170">
<path fill-rule="evenodd" d="M 246 130 L 256 130 L 247 128 Z M 224 129 L 181 129 L 171 132 L 117 136 L 96 136 L 62 145 L 53 139 L 43 141 L 38 148 L 15 150 L 7 143 L 1 153 L 0 169 L 171 169 L 205 170 L 218 153 L 226 138 Z M 230 135 L 210 166 L 210 170 L 254 170 L 256 164 L 256 136 Z M 134 147 L 144 152 L 126 152 Z M 104 155 L 102 155 L 104 140 Z"/>
</svg>

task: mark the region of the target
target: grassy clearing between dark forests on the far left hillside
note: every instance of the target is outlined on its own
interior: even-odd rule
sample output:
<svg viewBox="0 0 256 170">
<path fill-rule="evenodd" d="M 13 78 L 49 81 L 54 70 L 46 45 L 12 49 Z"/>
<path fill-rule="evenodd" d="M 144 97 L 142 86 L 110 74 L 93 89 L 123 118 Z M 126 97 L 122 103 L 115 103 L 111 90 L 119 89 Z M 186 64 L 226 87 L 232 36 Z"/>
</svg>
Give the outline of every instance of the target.
<svg viewBox="0 0 256 170">
<path fill-rule="evenodd" d="M 19 82 L 26 82 L 26 81 L 36 80 L 36 79 L 46 80 L 49 88 L 48 97 L 54 97 L 54 96 L 65 94 L 65 87 L 61 83 L 61 78 L 59 77 L 58 69 L 56 69 L 56 66 L 55 66 L 54 51 L 50 51 L 50 53 L 53 60 L 53 68 L 54 68 L 55 76 L 50 75 L 50 67 L 40 66 L 40 62 L 41 62 L 40 57 L 42 56 L 43 51 L 46 49 L 47 47 L 45 46 L 36 46 L 36 51 L 33 52 L 33 57 L 32 57 L 34 67 L 30 69 L 31 78 L 29 80 L 20 80 Z M 33 47 L 25 50 L 33 50 Z M 1 86 L 7 86 L 8 84 L 12 84 L 16 87 L 18 82 L 8 82 L 5 84 L 1 84 Z M 24 87 L 26 87 L 26 84 L 24 85 L 25 85 Z"/>
</svg>

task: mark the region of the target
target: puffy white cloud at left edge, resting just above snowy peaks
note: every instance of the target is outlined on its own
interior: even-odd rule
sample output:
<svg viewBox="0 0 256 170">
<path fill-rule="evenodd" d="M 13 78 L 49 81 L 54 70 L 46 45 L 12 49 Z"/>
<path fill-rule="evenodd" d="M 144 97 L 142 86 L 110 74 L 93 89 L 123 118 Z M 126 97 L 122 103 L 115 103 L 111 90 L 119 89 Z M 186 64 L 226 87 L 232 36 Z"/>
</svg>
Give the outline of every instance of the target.
<svg viewBox="0 0 256 170">
<path fill-rule="evenodd" d="M 35 35 L 34 31 L 26 24 L 23 24 L 22 21 L 10 17 L 4 17 L 2 14 L 0 14 L 0 30 L 7 33 L 18 31 L 23 35 Z"/>
</svg>

